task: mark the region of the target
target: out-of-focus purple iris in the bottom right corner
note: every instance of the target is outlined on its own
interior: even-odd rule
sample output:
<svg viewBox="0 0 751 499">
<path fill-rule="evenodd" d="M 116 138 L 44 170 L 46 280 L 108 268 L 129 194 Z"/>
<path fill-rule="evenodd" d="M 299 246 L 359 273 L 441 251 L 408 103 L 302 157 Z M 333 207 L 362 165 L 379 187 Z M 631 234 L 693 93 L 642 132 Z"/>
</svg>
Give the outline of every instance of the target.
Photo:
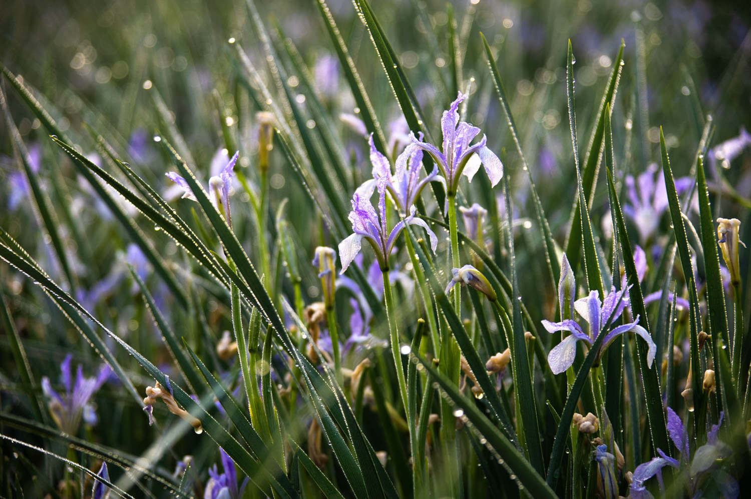
<svg viewBox="0 0 751 499">
<path fill-rule="evenodd" d="M 683 463 L 683 469 L 680 473 L 683 473 L 686 483 L 691 489 L 689 497 L 703 497 L 704 492 L 699 488 L 699 485 L 706 489 L 707 479 L 714 482 L 716 492 L 719 492 L 725 499 L 738 497 L 740 492 L 738 482 L 719 467 L 719 463 L 732 454 L 731 447 L 717 438 L 723 417 L 724 413 L 720 413 L 719 422 L 716 425 L 712 425 L 710 431 L 707 432 L 707 443 L 696 449 L 692 458 L 689 447 L 689 432 L 686 431 L 686 426 L 683 425 L 683 422 L 675 411 L 671 407 L 668 407 L 668 435 L 680 453 L 680 461 L 665 455 L 662 449 L 657 449 L 659 457 L 639 464 L 634 470 L 633 482 L 629 489 L 631 497 L 634 499 L 649 499 L 653 497 L 647 491 L 644 482 L 655 475 L 659 481 L 660 490 L 664 494 L 665 485 L 662 483 L 662 468 L 668 465 L 680 468 L 681 463 Z"/>
</svg>

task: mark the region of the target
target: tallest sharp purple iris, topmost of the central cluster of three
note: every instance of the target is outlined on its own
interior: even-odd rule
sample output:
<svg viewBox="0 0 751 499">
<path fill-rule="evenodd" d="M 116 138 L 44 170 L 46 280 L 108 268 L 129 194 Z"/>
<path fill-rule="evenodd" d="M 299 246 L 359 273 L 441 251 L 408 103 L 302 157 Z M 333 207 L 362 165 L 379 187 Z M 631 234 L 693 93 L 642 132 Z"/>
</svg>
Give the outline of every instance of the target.
<svg viewBox="0 0 751 499">
<path fill-rule="evenodd" d="M 403 153 L 406 154 L 409 149 L 415 148 L 422 149 L 433 156 L 446 179 L 446 189 L 449 194 L 456 194 L 460 175 L 464 174 L 471 181 L 481 164 L 485 167 L 491 185 L 496 185 L 503 176 L 503 164 L 498 156 L 485 146 L 485 143 L 487 143 L 485 135 L 482 136 L 480 142 L 470 145 L 472 140 L 480 133 L 480 129 L 467 122 L 459 121 L 459 104 L 466 97 L 459 92 L 457 99 L 451 103 L 451 107 L 443 112 L 441 118 L 442 151 L 439 151 L 436 146 L 430 143 L 423 142 L 422 134 L 418 139 L 414 133 L 411 133 L 412 143 L 406 147 Z M 409 154 L 411 155 L 412 151 Z"/>
</svg>

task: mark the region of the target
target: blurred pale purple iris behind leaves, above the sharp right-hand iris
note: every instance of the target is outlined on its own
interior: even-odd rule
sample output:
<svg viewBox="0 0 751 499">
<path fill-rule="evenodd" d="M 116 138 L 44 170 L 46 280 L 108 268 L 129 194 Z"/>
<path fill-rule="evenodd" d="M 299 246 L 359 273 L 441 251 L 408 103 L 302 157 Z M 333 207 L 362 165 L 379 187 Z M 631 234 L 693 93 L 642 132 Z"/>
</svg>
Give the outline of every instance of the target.
<svg viewBox="0 0 751 499">
<path fill-rule="evenodd" d="M 642 242 L 647 242 L 659 227 L 662 213 L 668 209 L 668 191 L 665 188 L 665 177 L 659 173 L 656 164 L 650 164 L 644 173 L 634 178 L 626 176 L 626 196 L 628 203 L 623 203 L 623 212 L 636 224 L 636 229 Z M 657 180 L 655 182 L 655 176 Z M 677 194 L 683 194 L 693 185 L 690 177 L 675 179 Z M 698 200 L 694 195 L 691 207 L 698 209 Z"/>
</svg>

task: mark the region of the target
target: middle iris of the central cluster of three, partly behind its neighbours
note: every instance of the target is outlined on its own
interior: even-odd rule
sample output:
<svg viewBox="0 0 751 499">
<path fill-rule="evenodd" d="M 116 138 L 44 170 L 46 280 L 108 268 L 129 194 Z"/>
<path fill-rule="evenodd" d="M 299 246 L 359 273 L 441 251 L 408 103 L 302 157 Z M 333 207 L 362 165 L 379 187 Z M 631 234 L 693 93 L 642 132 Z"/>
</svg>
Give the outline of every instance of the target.
<svg viewBox="0 0 751 499">
<path fill-rule="evenodd" d="M 388 158 L 375 149 L 373 135 L 370 134 L 370 162 L 373 165 L 373 178 L 376 182 L 384 179 L 386 188 L 391 193 L 391 198 L 397 203 L 401 213 L 406 213 L 410 206 L 420 197 L 420 193 L 428 182 L 441 182 L 444 186 L 446 181 L 438 174 L 438 167 L 433 166 L 430 175 L 420 178 L 423 170 L 421 149 L 406 148 L 397 158 L 397 173 L 391 175 L 391 163 Z"/>
</svg>

